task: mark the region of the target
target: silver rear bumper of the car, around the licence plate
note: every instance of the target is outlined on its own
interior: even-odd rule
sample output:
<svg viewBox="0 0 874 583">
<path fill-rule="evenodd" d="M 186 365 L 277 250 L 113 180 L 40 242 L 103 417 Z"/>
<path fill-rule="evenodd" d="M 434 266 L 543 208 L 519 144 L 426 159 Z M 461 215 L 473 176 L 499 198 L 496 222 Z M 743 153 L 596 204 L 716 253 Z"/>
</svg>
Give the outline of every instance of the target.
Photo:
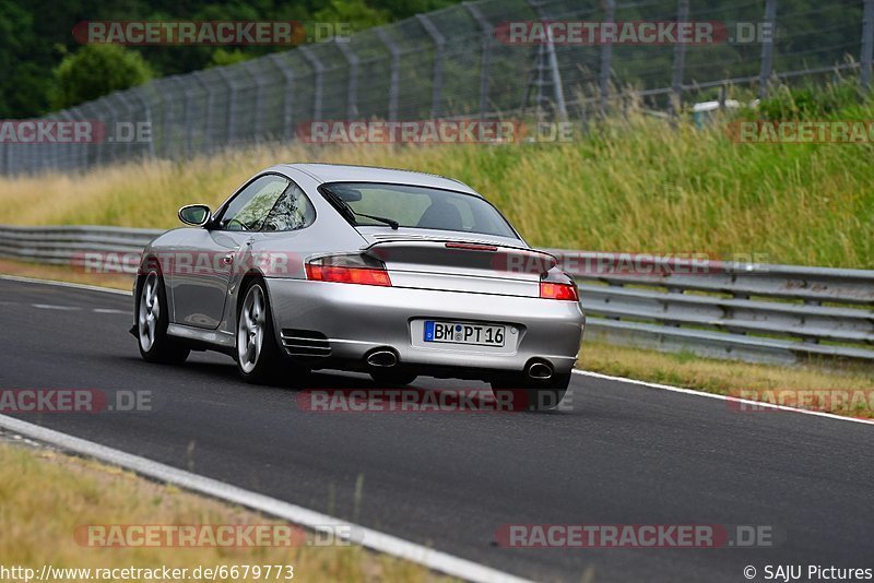
<svg viewBox="0 0 874 583">
<path fill-rule="evenodd" d="M 327 336 L 330 352 L 310 357 L 315 368 L 361 368 L 370 350 L 389 346 L 402 365 L 460 378 L 521 372 L 531 358 L 564 373 L 576 362 L 586 320 L 580 305 L 569 301 L 306 279 L 267 284 L 280 346 L 283 330 Z M 507 346 L 426 345 L 418 338 L 423 320 L 506 324 Z"/>
</svg>

